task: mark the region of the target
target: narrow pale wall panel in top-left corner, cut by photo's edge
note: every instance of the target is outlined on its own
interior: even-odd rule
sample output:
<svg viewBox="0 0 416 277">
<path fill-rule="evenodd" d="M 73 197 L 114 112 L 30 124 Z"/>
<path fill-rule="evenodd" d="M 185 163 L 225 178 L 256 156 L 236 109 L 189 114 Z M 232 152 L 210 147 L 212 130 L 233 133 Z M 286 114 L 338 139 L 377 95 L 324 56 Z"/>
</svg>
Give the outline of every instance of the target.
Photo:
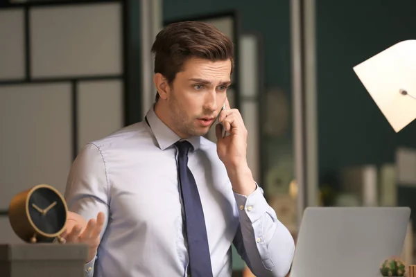
<svg viewBox="0 0 416 277">
<path fill-rule="evenodd" d="M 24 12 L 0 10 L 0 80 L 23 79 Z"/>
</svg>

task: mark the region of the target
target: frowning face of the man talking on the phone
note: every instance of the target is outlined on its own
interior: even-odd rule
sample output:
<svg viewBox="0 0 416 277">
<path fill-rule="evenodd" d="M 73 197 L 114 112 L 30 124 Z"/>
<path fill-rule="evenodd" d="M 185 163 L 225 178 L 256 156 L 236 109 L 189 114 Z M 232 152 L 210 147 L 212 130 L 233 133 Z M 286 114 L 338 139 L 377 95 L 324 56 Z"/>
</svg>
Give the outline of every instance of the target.
<svg viewBox="0 0 416 277">
<path fill-rule="evenodd" d="M 204 136 L 214 124 L 227 96 L 231 61 L 192 58 L 176 74 L 168 93 L 175 132 L 182 138 Z"/>
</svg>

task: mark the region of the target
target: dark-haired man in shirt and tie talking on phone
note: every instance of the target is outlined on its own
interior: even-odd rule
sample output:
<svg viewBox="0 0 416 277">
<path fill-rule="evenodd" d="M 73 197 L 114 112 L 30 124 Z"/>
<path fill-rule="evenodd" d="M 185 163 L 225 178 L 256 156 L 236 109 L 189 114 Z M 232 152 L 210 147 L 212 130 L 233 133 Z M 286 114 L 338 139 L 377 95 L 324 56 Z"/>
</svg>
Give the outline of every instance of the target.
<svg viewBox="0 0 416 277">
<path fill-rule="evenodd" d="M 257 276 L 286 276 L 293 238 L 252 177 L 226 97 L 232 42 L 188 21 L 164 28 L 152 51 L 154 107 L 85 145 L 69 173 L 64 238 L 89 245 L 86 276 L 231 276 L 232 243 Z M 215 144 L 203 136 L 217 117 Z"/>
</svg>

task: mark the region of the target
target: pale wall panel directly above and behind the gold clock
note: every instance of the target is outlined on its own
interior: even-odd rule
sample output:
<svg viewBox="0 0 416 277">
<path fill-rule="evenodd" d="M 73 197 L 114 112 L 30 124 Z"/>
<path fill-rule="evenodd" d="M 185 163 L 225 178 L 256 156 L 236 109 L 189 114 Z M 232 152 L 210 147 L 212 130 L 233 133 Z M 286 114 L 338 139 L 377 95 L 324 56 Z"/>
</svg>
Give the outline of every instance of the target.
<svg viewBox="0 0 416 277">
<path fill-rule="evenodd" d="M 0 209 L 36 184 L 61 193 L 72 161 L 71 86 L 0 86 Z"/>
</svg>

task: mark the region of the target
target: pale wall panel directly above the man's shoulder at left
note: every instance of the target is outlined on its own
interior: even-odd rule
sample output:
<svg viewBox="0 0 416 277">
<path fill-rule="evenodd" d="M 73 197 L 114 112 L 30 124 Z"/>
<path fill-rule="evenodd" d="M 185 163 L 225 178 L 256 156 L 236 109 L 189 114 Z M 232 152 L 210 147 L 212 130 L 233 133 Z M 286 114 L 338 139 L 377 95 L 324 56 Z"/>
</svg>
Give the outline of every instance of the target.
<svg viewBox="0 0 416 277">
<path fill-rule="evenodd" d="M 123 127 L 123 84 L 120 80 L 78 84 L 78 150 Z"/>
</svg>

